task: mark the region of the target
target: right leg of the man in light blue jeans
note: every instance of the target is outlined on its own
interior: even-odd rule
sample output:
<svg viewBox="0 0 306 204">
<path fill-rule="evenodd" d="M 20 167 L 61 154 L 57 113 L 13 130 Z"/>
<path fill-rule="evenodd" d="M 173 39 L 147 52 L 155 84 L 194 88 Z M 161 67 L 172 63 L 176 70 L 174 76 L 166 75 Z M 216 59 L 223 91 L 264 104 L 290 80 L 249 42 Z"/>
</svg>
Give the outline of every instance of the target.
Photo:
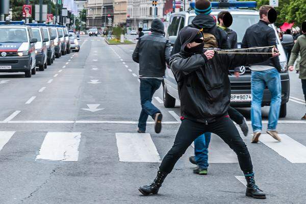
<svg viewBox="0 0 306 204">
<path fill-rule="evenodd" d="M 265 74 L 265 82 L 271 93 L 268 131 L 275 131 L 282 103 L 281 76 L 276 69 L 269 69 Z"/>
</svg>

